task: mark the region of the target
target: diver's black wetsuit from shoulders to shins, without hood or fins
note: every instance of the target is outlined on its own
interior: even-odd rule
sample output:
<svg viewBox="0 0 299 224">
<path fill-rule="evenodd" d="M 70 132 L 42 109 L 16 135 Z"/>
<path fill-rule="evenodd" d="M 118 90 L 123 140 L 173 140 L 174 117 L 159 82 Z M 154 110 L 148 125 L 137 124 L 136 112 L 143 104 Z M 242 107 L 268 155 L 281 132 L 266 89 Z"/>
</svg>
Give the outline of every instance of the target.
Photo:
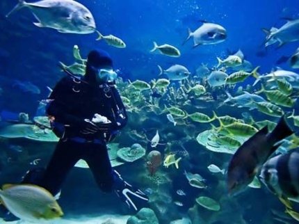
<svg viewBox="0 0 299 224">
<path fill-rule="evenodd" d="M 78 83 L 67 76 L 58 82 L 49 99 L 52 101 L 47 106 L 47 115 L 53 116 L 57 129 L 63 125 L 65 131 L 37 184 L 56 195 L 67 173 L 79 159 L 84 159 L 99 188 L 111 191 L 115 177 L 106 143 L 127 124 L 127 113 L 118 90 L 114 85 Z M 92 120 L 95 113 L 111 121 L 110 134 L 80 132 L 84 119 Z M 55 125 L 54 131 L 57 131 Z"/>
</svg>

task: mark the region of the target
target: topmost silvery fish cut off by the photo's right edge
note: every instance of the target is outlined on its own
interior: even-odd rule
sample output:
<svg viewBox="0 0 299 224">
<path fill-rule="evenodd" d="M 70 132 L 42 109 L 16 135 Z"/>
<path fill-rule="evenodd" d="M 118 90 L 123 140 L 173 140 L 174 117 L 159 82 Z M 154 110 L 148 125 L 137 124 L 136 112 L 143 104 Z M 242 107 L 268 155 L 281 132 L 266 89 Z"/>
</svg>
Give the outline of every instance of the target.
<svg viewBox="0 0 299 224">
<path fill-rule="evenodd" d="M 265 46 L 280 42 L 278 47 L 282 47 L 287 42 L 299 40 L 299 19 L 288 20 L 280 29 L 273 27 L 270 31 L 263 29 L 266 33 Z"/>
</svg>

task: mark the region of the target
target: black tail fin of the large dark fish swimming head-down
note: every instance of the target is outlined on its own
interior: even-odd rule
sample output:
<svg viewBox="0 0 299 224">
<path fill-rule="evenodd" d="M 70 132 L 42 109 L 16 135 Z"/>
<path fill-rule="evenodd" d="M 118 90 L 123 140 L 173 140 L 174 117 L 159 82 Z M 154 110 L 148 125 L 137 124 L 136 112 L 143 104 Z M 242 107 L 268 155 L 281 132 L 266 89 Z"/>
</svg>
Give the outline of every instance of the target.
<svg viewBox="0 0 299 224">
<path fill-rule="evenodd" d="M 280 118 L 280 121 L 277 123 L 276 127 L 273 131 L 269 134 L 268 139 L 270 143 L 277 143 L 278 141 L 282 141 L 282 139 L 290 136 L 294 132 L 291 130 L 289 125 L 286 123 L 284 119 L 284 115 Z"/>
</svg>

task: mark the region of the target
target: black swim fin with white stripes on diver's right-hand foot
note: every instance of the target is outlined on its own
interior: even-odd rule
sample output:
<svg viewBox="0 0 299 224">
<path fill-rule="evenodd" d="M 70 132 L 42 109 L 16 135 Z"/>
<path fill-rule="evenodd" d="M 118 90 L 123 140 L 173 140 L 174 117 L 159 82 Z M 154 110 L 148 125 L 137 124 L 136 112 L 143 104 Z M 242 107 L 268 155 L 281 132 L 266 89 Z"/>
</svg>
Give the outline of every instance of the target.
<svg viewBox="0 0 299 224">
<path fill-rule="evenodd" d="M 125 182 L 118 172 L 115 170 L 113 172 L 115 178 L 114 191 L 116 195 L 127 204 L 129 209 L 138 211 L 137 206 L 140 205 L 140 203 L 147 202 L 149 198 L 143 191 L 140 191 L 131 186 L 131 184 Z"/>
</svg>

